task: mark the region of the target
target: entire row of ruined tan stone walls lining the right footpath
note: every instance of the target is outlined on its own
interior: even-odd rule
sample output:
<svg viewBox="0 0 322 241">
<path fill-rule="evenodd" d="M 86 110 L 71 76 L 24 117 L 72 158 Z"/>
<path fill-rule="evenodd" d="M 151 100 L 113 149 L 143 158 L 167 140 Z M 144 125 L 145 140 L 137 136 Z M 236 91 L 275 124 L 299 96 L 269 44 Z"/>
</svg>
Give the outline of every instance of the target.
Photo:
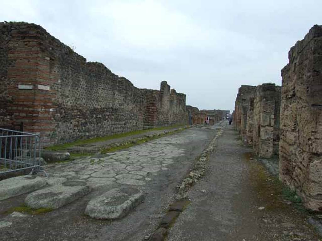
<svg viewBox="0 0 322 241">
<path fill-rule="evenodd" d="M 322 26 L 289 51 L 282 86 L 242 85 L 235 128 L 260 157 L 279 156 L 279 178 L 322 211 Z"/>
</svg>

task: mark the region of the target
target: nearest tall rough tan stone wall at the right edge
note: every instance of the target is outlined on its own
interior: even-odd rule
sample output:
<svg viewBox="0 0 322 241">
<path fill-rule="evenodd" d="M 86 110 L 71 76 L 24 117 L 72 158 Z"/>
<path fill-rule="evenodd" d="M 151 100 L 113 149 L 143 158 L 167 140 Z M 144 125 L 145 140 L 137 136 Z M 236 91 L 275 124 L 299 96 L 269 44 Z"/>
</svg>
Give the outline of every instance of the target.
<svg viewBox="0 0 322 241">
<path fill-rule="evenodd" d="M 322 26 L 289 51 L 282 69 L 279 177 L 322 210 Z"/>
</svg>

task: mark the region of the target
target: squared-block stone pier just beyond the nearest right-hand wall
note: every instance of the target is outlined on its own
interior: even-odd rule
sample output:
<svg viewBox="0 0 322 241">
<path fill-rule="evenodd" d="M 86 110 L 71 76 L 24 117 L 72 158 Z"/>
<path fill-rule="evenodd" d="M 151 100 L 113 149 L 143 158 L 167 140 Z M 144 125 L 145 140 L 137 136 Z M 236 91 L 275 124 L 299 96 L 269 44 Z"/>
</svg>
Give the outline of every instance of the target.
<svg viewBox="0 0 322 241">
<path fill-rule="evenodd" d="M 253 120 L 250 121 L 253 125 L 251 142 L 254 151 L 260 157 L 270 158 L 278 155 L 279 110 L 280 86 L 258 85 L 253 100 Z M 249 135 L 250 132 L 249 130 Z"/>
</svg>

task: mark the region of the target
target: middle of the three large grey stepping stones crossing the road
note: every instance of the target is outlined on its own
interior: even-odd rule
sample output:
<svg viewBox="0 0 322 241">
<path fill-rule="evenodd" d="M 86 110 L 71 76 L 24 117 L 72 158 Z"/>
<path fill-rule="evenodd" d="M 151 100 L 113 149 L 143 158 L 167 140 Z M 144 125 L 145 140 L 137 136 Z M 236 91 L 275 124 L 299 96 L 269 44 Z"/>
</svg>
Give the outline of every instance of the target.
<svg viewBox="0 0 322 241">
<path fill-rule="evenodd" d="M 81 180 L 67 181 L 62 184 L 50 186 L 30 193 L 25 203 L 27 206 L 39 208 L 58 209 L 90 192 L 90 187 Z"/>
</svg>

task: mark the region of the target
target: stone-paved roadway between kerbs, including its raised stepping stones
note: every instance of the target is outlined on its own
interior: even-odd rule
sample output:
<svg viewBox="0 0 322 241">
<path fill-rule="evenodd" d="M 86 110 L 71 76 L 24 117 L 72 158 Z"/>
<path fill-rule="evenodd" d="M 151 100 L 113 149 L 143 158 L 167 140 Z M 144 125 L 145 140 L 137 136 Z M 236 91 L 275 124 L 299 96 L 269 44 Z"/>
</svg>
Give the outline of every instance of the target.
<svg viewBox="0 0 322 241">
<path fill-rule="evenodd" d="M 176 185 L 215 137 L 217 128 L 218 124 L 186 129 L 117 152 L 45 165 L 49 177 L 42 179 L 47 186 L 1 201 L 0 224 L 5 235 L 0 240 L 142 240 L 154 231 L 175 199 Z M 113 195 L 120 198 L 113 201 L 107 192 L 120 187 L 134 189 L 124 189 L 124 194 L 115 191 Z M 135 196 L 135 189 L 143 195 Z M 124 199 L 126 195 L 129 199 Z M 18 216 L 10 212 L 24 203 L 54 210 Z M 109 216 L 102 217 L 100 210 L 108 210 Z M 110 222 L 85 214 L 98 219 L 128 216 Z M 31 233 L 30 227 L 38 228 Z"/>
</svg>

